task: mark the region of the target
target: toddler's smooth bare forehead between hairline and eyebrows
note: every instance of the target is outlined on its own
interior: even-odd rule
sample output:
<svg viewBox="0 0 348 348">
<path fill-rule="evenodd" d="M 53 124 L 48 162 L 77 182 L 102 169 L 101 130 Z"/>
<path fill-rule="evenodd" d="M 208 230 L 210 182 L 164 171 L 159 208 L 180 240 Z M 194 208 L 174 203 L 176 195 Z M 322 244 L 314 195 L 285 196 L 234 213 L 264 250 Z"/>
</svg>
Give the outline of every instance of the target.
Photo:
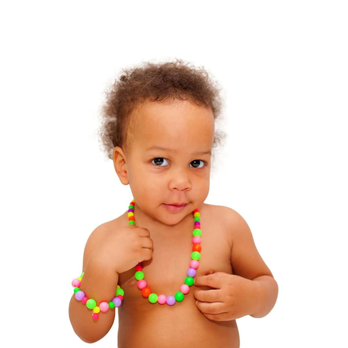
<svg viewBox="0 0 348 348">
<path fill-rule="evenodd" d="M 133 114 L 134 142 L 143 150 L 154 145 L 173 150 L 211 149 L 214 115 L 191 101 L 145 102 Z"/>
</svg>

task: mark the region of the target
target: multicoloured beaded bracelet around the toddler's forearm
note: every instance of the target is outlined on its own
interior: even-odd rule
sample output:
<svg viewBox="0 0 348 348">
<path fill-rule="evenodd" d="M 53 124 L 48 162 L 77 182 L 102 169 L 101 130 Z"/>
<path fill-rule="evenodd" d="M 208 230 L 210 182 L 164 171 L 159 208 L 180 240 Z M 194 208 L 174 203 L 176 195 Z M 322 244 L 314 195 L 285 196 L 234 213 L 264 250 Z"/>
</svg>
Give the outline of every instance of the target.
<svg viewBox="0 0 348 348">
<path fill-rule="evenodd" d="M 116 297 L 114 297 L 109 303 L 102 301 L 100 302 L 99 306 L 97 306 L 97 302 L 93 299 L 88 299 L 87 296 L 85 295 L 85 293 L 80 290 L 79 286 L 81 284 L 81 280 L 82 277 L 84 276 L 85 272 L 82 272 L 81 276 L 73 279 L 73 281 L 71 282 L 72 286 L 74 287 L 74 293 L 75 293 L 75 298 L 79 301 L 81 301 L 83 304 L 86 304 L 87 308 L 89 309 L 93 309 L 92 312 L 92 318 L 93 319 L 98 319 L 99 318 L 99 312 L 106 312 L 109 310 L 109 308 L 115 308 L 115 307 L 119 307 L 122 299 L 123 299 L 123 295 L 125 294 L 125 292 L 123 291 L 123 289 L 117 285 L 117 290 L 116 290 Z"/>
</svg>

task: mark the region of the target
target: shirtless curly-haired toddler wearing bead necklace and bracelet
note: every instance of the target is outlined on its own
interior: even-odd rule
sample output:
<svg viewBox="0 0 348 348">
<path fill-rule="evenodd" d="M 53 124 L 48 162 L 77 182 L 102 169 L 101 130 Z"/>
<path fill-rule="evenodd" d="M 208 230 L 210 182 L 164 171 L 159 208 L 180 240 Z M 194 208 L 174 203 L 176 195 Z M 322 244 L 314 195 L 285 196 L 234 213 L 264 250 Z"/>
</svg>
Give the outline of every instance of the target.
<svg viewBox="0 0 348 348">
<path fill-rule="evenodd" d="M 119 286 L 118 348 L 239 347 L 236 319 L 266 316 L 278 285 L 243 217 L 204 203 L 219 89 L 176 60 L 123 70 L 107 96 L 100 134 L 132 197 L 87 240 L 78 288 L 106 308 L 92 317 L 74 293 L 74 332 L 89 343 L 109 332 Z"/>
</svg>

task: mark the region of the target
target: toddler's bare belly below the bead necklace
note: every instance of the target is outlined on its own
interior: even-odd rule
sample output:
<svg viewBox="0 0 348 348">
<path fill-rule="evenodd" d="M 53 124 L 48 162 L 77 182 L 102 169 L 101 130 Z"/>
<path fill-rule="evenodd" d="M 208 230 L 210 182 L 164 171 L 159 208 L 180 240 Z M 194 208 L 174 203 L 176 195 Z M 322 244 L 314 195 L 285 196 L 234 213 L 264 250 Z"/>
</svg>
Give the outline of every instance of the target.
<svg viewBox="0 0 348 348">
<path fill-rule="evenodd" d="M 150 303 L 139 293 L 125 295 L 118 307 L 118 348 L 238 348 L 235 320 L 213 321 L 197 308 L 192 295 L 173 306 Z"/>
</svg>

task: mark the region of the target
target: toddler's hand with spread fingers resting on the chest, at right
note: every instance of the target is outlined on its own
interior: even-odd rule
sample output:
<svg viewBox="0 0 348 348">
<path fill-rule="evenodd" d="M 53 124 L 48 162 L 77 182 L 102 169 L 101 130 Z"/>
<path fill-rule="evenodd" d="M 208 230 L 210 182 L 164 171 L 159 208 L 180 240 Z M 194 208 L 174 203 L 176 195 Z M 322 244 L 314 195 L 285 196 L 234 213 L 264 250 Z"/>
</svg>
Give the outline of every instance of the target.
<svg viewBox="0 0 348 348">
<path fill-rule="evenodd" d="M 194 285 L 215 288 L 193 291 L 197 308 L 211 320 L 228 321 L 253 314 L 258 304 L 257 284 L 237 275 L 215 272 L 197 277 Z"/>
</svg>

